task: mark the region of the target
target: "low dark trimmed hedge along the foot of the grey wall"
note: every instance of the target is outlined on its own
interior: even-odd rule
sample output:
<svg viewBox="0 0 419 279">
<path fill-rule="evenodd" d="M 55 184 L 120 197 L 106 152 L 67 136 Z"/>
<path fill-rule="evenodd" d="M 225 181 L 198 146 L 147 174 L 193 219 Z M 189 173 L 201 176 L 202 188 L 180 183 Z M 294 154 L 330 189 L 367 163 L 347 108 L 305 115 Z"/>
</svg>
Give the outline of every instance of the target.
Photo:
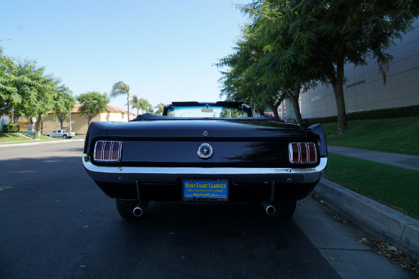
<svg viewBox="0 0 419 279">
<path fill-rule="evenodd" d="M 388 119 L 419 116 L 419 105 L 410 107 L 393 107 L 383 110 L 368 110 L 365 112 L 352 112 L 346 114 L 347 120 L 365 120 L 365 119 Z M 328 116 L 321 118 L 303 119 L 303 122 L 309 123 L 335 123 L 337 116 Z"/>
</svg>

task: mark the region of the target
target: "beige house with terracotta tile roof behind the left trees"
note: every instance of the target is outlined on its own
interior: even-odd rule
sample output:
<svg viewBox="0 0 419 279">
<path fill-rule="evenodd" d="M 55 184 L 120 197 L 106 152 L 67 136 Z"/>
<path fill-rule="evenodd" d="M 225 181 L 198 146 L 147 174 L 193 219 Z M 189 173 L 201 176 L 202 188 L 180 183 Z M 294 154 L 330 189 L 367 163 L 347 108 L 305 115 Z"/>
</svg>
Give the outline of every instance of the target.
<svg viewBox="0 0 419 279">
<path fill-rule="evenodd" d="M 80 114 L 78 108 L 81 104 L 75 104 L 73 110 L 71 111 L 71 131 L 76 134 L 85 134 L 87 133 L 87 118 Z M 135 114 L 130 113 L 130 120 L 135 118 Z M 93 121 L 115 121 L 115 122 L 127 122 L 128 121 L 128 112 L 122 110 L 115 105 L 107 105 L 105 112 L 96 115 L 91 122 Z M 68 116 L 63 123 L 63 128 L 67 131 L 70 130 L 70 119 Z M 48 116 L 43 119 L 43 127 L 41 134 L 50 133 L 53 130 L 61 129 L 60 123 L 57 120 L 57 117 L 54 115 L 54 111 L 48 112 Z M 26 129 L 24 129 L 26 130 Z"/>
</svg>

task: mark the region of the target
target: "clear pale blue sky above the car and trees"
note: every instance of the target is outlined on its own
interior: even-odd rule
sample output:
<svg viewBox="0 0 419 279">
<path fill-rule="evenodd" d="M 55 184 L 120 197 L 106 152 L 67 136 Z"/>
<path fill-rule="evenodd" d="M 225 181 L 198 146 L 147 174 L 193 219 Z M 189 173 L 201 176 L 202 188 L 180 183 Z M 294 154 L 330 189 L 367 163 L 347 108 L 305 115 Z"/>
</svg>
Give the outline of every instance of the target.
<svg viewBox="0 0 419 279">
<path fill-rule="evenodd" d="M 37 61 L 74 96 L 122 80 L 156 106 L 221 100 L 212 64 L 233 52 L 247 22 L 235 4 L 251 0 L 2 2 L 3 54 Z M 126 97 L 110 104 L 126 110 Z"/>
</svg>

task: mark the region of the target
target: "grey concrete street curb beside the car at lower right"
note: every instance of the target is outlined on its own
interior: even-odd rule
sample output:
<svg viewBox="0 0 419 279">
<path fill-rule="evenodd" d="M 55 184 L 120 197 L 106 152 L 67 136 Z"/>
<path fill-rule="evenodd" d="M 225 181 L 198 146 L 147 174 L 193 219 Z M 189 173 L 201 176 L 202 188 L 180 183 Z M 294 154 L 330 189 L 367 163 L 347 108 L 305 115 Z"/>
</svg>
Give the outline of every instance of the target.
<svg viewBox="0 0 419 279">
<path fill-rule="evenodd" d="M 419 259 L 419 220 L 328 179 L 321 179 L 314 193 L 368 232 Z"/>
</svg>

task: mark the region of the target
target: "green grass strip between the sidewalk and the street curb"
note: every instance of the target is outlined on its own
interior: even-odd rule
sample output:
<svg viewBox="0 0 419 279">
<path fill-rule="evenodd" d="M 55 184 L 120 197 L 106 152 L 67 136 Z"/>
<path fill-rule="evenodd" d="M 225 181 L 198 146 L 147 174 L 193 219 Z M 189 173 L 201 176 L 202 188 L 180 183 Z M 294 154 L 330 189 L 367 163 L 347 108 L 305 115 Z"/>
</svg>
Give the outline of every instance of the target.
<svg viewBox="0 0 419 279">
<path fill-rule="evenodd" d="M 325 178 L 419 218 L 419 172 L 415 170 L 329 153 Z"/>
</svg>

